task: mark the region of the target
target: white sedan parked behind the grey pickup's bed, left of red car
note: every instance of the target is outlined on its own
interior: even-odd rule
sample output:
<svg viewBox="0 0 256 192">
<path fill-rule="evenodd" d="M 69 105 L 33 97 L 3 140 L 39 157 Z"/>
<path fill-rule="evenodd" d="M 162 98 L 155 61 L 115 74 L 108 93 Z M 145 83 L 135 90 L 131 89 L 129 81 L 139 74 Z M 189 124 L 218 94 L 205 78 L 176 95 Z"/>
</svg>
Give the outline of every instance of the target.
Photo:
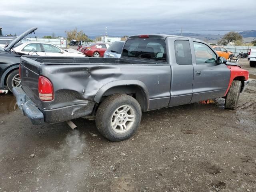
<svg viewBox="0 0 256 192">
<path fill-rule="evenodd" d="M 30 41 L 23 43 L 15 48 L 15 52 L 26 54 L 26 55 L 38 55 L 38 56 L 60 56 L 60 57 L 85 57 L 83 53 L 68 52 L 62 50 L 58 46 L 46 43 L 46 42 L 37 42 Z"/>
</svg>

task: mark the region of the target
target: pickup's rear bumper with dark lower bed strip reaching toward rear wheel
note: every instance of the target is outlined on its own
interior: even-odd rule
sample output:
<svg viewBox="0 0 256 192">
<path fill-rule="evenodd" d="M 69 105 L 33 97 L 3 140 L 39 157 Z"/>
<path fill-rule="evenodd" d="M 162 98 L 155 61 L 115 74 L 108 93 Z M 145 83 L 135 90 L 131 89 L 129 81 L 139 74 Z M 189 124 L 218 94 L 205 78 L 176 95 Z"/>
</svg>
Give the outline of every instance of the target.
<svg viewBox="0 0 256 192">
<path fill-rule="evenodd" d="M 32 124 L 52 124 L 86 116 L 92 113 L 95 104 L 95 102 L 86 100 L 83 104 L 40 110 L 21 87 L 13 88 L 12 92 L 16 97 L 18 107 Z"/>
</svg>

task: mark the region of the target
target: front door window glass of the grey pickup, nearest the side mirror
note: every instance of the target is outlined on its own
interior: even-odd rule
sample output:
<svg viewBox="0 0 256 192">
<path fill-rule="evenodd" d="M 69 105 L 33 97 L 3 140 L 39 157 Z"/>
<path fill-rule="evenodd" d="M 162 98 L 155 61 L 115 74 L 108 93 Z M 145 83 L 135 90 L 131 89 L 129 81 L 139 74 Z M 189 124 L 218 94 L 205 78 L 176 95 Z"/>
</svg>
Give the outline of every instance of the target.
<svg viewBox="0 0 256 192">
<path fill-rule="evenodd" d="M 193 42 L 196 64 L 216 64 L 217 56 L 206 44 Z"/>
</svg>

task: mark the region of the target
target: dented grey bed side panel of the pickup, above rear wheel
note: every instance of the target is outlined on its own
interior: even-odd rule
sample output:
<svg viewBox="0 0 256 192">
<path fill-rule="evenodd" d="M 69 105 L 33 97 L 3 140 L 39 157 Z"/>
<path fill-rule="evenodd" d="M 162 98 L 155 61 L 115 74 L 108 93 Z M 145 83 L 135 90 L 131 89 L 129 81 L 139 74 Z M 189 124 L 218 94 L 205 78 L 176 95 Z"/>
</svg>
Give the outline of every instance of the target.
<svg viewBox="0 0 256 192">
<path fill-rule="evenodd" d="M 88 60 L 89 58 L 83 58 Z M 93 58 L 95 61 L 95 58 Z M 99 58 L 100 61 L 101 58 Z M 27 59 L 25 59 L 28 61 Z M 54 100 L 51 102 L 37 102 L 40 109 L 56 109 L 65 106 L 85 104 L 89 102 L 99 102 L 104 92 L 114 86 L 136 85 L 140 86 L 145 92 L 146 100 L 159 99 L 159 108 L 168 105 L 166 102 L 161 103 L 161 98 L 170 98 L 171 73 L 170 65 L 167 63 L 154 64 L 137 62 L 136 64 L 122 62 L 121 59 L 111 59 L 111 62 L 104 63 L 38 63 L 40 66 L 38 75 L 48 78 L 54 88 Z M 116 61 L 119 60 L 120 62 Z M 34 61 L 36 62 L 36 61 Z M 87 61 L 88 62 L 88 61 Z M 29 62 L 30 63 L 30 62 Z M 30 64 L 27 64 L 28 66 Z M 24 72 L 23 72 L 24 74 Z M 30 78 L 27 80 L 31 81 Z M 26 86 L 26 78 L 22 77 L 22 87 L 26 93 L 34 94 L 31 98 L 36 100 L 36 91 L 29 91 Z M 35 86 L 38 82 L 34 82 Z M 96 97 L 97 95 L 97 97 Z M 30 96 L 30 95 L 29 95 Z"/>
</svg>

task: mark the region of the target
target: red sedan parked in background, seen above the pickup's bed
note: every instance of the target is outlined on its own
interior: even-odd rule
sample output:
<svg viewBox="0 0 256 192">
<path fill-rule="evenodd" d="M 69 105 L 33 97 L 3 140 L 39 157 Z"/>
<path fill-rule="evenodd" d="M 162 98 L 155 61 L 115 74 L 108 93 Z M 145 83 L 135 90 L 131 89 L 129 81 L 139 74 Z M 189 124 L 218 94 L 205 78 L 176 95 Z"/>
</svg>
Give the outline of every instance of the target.
<svg viewBox="0 0 256 192">
<path fill-rule="evenodd" d="M 108 47 L 109 44 L 94 44 L 84 48 L 85 50 L 82 49 L 82 53 L 88 57 L 103 57 Z"/>
</svg>

